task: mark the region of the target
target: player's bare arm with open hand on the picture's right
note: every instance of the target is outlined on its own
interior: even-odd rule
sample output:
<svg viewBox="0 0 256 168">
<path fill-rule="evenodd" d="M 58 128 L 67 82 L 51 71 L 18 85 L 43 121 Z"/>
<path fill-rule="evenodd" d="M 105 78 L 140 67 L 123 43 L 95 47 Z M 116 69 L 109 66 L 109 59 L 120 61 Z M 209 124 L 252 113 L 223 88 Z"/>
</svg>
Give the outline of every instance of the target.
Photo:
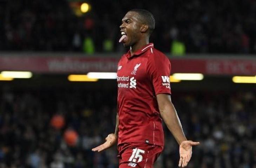
<svg viewBox="0 0 256 168">
<path fill-rule="evenodd" d="M 192 156 L 192 146 L 199 145 L 199 142 L 188 141 L 183 133 L 180 119 L 169 94 L 157 94 L 157 103 L 160 115 L 170 132 L 180 145 L 179 167 L 186 167 Z"/>
</svg>

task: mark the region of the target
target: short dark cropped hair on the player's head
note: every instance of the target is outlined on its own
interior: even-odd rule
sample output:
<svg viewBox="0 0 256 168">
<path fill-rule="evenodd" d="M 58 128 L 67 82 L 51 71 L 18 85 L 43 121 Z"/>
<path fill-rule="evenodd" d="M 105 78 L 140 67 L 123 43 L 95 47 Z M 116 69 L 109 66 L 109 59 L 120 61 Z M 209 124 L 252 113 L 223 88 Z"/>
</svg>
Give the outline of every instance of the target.
<svg viewBox="0 0 256 168">
<path fill-rule="evenodd" d="M 136 12 L 140 15 L 140 19 L 143 24 L 148 25 L 149 35 L 155 29 L 155 18 L 154 15 L 146 9 L 132 9 L 129 12 Z"/>
</svg>

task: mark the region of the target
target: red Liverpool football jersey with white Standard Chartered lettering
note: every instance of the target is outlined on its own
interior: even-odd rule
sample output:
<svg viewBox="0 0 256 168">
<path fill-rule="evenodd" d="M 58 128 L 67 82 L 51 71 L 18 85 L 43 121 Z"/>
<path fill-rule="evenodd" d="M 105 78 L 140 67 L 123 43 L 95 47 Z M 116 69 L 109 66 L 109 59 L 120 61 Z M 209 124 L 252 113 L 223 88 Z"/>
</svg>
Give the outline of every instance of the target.
<svg viewBox="0 0 256 168">
<path fill-rule="evenodd" d="M 149 43 L 133 56 L 124 54 L 117 66 L 118 144 L 164 145 L 156 95 L 170 94 L 169 59 Z"/>
</svg>

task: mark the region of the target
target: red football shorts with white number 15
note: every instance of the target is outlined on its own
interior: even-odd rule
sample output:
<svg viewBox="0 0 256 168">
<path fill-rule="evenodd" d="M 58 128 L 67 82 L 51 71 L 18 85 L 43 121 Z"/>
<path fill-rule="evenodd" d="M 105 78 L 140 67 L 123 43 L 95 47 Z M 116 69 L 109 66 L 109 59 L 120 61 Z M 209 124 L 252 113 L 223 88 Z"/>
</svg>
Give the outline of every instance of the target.
<svg viewBox="0 0 256 168">
<path fill-rule="evenodd" d="M 124 143 L 117 146 L 119 168 L 153 168 L 163 146 L 146 143 Z"/>
</svg>

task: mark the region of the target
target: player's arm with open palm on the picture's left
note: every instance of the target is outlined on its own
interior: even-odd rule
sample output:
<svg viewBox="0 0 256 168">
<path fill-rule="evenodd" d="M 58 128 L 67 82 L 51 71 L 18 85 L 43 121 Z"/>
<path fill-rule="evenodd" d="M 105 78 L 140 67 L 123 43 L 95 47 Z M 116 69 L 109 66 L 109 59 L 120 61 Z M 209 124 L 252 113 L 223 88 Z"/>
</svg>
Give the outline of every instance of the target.
<svg viewBox="0 0 256 168">
<path fill-rule="evenodd" d="M 116 128 L 115 128 L 115 133 L 114 134 L 109 134 L 106 138 L 106 142 L 100 146 L 97 146 L 92 149 L 94 152 L 101 152 L 104 151 L 107 148 L 112 147 L 116 142 L 118 138 L 118 126 L 119 126 L 119 117 L 118 114 L 116 114 Z"/>
</svg>

